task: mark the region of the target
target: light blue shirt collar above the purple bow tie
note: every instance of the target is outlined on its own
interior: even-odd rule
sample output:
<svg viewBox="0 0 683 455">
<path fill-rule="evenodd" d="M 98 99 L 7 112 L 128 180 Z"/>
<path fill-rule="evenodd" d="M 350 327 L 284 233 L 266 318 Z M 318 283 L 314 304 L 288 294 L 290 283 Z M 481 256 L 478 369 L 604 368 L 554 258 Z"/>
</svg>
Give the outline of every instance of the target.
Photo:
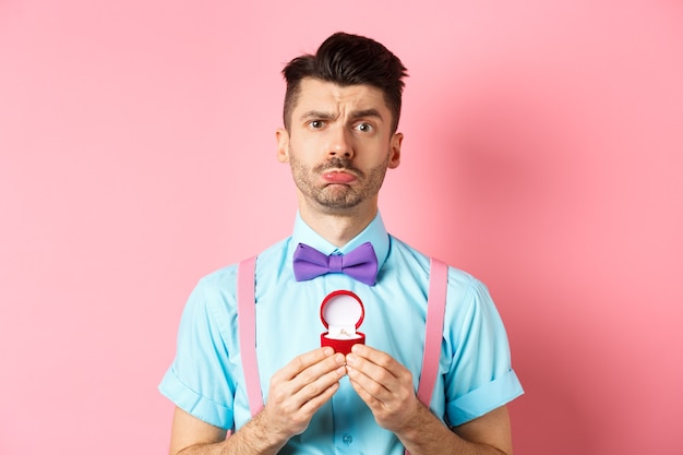
<svg viewBox="0 0 683 455">
<path fill-rule="evenodd" d="M 333 253 L 346 254 L 364 242 L 372 243 L 374 253 L 378 256 L 378 270 L 381 270 L 382 265 L 384 265 L 384 261 L 386 261 L 386 256 L 388 255 L 390 240 L 384 223 L 382 221 L 382 216 L 379 212 L 374 219 L 370 221 L 368 227 L 340 248 L 329 243 L 315 232 L 309 225 L 305 224 L 303 219 L 301 219 L 301 215 L 297 212 L 297 219 L 295 220 L 295 228 L 289 246 L 289 258 L 291 258 L 295 248 L 299 243 L 305 243 L 321 253 L 329 255 Z"/>
</svg>

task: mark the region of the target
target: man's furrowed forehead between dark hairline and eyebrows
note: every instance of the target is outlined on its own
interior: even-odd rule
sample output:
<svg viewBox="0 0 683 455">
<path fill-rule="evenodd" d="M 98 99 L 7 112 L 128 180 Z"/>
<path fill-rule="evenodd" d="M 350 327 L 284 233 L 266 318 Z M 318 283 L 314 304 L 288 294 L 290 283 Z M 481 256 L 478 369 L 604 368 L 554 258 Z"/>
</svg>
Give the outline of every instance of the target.
<svg viewBox="0 0 683 455">
<path fill-rule="evenodd" d="M 334 82 L 304 77 L 299 85 L 293 115 L 310 110 L 375 109 L 391 115 L 384 93 L 372 85 L 338 85 Z"/>
</svg>

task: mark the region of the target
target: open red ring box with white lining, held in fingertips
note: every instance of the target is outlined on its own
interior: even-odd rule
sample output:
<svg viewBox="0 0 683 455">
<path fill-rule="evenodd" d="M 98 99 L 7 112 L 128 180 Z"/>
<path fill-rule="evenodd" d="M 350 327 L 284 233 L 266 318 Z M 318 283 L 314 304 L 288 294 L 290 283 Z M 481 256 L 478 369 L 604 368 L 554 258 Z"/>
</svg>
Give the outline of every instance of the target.
<svg viewBox="0 0 683 455">
<path fill-rule="evenodd" d="M 320 319 L 327 332 L 320 335 L 321 346 L 331 346 L 345 356 L 356 344 L 366 344 L 366 334 L 356 332 L 366 318 L 360 298 L 350 290 L 329 292 L 320 306 Z"/>
</svg>

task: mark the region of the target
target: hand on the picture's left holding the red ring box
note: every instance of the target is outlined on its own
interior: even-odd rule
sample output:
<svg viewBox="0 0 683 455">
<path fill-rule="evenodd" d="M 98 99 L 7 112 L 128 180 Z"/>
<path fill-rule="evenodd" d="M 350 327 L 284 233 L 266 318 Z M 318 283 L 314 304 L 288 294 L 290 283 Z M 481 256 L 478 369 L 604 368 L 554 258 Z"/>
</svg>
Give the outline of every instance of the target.
<svg viewBox="0 0 683 455">
<path fill-rule="evenodd" d="M 285 442 L 302 433 L 313 415 L 339 388 L 345 358 L 329 347 L 296 357 L 273 374 L 268 399 L 259 420 Z"/>
</svg>

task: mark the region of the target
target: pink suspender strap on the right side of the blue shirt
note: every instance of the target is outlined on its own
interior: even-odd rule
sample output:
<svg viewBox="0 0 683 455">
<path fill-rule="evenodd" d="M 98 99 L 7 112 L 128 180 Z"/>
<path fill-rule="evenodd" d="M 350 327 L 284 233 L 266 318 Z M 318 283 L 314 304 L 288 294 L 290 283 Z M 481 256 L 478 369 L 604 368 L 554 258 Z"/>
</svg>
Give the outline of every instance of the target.
<svg viewBox="0 0 683 455">
<path fill-rule="evenodd" d="M 448 266 L 432 258 L 429 274 L 429 296 L 427 298 L 427 326 L 424 328 L 424 352 L 422 373 L 418 385 L 418 399 L 429 408 L 439 374 L 443 318 L 446 309 Z"/>
</svg>

